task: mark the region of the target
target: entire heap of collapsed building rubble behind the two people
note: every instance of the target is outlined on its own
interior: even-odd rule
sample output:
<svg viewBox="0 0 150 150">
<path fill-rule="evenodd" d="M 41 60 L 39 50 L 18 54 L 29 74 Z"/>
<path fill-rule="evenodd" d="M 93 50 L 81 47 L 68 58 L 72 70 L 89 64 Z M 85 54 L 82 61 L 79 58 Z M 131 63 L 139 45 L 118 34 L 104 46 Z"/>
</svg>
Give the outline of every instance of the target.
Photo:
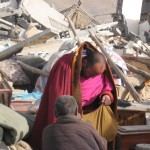
<svg viewBox="0 0 150 150">
<path fill-rule="evenodd" d="M 105 54 L 118 99 L 150 100 L 150 46 L 142 30 L 144 25 L 140 35 L 135 35 L 128 31 L 122 15 L 115 16 L 112 23 L 99 24 L 79 5 L 59 13 L 43 0 L 35 1 L 0 3 L 1 103 L 7 101 L 7 106 L 20 110 L 22 101 L 21 111 L 28 111 L 29 105 L 41 99 L 36 83 L 40 77 L 46 82 L 55 54 L 75 49 L 82 41 L 90 41 Z M 149 28 L 149 24 L 146 26 Z"/>
</svg>

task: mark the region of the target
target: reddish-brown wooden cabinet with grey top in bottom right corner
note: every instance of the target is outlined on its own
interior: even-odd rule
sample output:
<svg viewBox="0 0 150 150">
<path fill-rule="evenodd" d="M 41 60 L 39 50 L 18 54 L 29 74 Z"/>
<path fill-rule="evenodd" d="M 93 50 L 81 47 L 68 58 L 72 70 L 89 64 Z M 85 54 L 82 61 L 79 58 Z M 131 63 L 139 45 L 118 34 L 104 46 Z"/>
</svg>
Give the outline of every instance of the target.
<svg viewBox="0 0 150 150">
<path fill-rule="evenodd" d="M 136 144 L 150 144 L 150 126 L 120 126 L 116 137 L 116 150 L 135 150 Z"/>
</svg>

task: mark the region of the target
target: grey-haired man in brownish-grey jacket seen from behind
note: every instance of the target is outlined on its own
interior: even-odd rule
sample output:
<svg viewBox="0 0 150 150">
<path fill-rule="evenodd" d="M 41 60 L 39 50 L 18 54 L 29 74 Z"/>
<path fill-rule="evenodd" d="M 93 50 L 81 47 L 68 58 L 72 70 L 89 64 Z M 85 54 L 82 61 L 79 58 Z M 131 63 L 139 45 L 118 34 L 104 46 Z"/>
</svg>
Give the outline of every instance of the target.
<svg viewBox="0 0 150 150">
<path fill-rule="evenodd" d="M 76 99 L 63 95 L 55 102 L 56 123 L 44 128 L 42 150 L 107 150 L 107 141 L 81 120 Z"/>
</svg>

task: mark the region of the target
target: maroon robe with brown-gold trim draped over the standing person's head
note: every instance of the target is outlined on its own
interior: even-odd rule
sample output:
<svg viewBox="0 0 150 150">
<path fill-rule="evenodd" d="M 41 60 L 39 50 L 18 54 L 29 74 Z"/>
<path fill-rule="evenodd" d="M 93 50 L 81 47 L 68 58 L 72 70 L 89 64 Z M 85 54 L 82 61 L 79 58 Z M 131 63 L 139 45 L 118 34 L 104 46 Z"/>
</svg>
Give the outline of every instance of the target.
<svg viewBox="0 0 150 150">
<path fill-rule="evenodd" d="M 97 50 L 93 45 L 91 45 L 91 43 L 84 42 L 77 50 L 78 54 L 70 53 L 62 56 L 50 71 L 29 141 L 33 150 L 42 149 L 41 142 L 43 129 L 47 125 L 55 123 L 56 121 L 54 104 L 58 97 L 62 95 L 73 95 L 77 100 L 79 112 L 81 113 L 82 111 L 82 92 L 80 89 L 80 83 L 78 85 L 74 85 L 74 82 L 79 80 L 80 68 L 82 64 L 82 48 L 85 43 L 89 44 L 94 51 Z M 108 77 L 114 85 L 112 74 L 108 65 L 107 70 Z M 113 92 L 113 96 L 115 100 L 111 107 L 115 113 L 117 104 L 116 91 Z"/>
</svg>

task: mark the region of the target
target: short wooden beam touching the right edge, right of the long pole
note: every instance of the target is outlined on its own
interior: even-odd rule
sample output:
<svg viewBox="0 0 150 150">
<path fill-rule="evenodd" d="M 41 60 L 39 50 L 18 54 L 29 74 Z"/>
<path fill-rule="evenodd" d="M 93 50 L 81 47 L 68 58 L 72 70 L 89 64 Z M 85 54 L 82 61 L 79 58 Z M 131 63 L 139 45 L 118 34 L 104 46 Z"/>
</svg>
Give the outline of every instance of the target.
<svg viewBox="0 0 150 150">
<path fill-rule="evenodd" d="M 143 70 L 141 70 L 141 69 L 138 69 L 138 68 L 136 68 L 136 67 L 134 67 L 134 66 L 132 66 L 132 65 L 130 65 L 130 64 L 128 64 L 128 63 L 126 63 L 126 65 L 127 65 L 127 67 L 128 67 L 129 70 L 131 70 L 131 71 L 133 71 L 133 72 L 135 72 L 135 73 L 137 73 L 137 74 L 143 76 L 144 78 L 150 80 L 150 74 L 147 73 L 146 71 L 143 71 Z"/>
</svg>

